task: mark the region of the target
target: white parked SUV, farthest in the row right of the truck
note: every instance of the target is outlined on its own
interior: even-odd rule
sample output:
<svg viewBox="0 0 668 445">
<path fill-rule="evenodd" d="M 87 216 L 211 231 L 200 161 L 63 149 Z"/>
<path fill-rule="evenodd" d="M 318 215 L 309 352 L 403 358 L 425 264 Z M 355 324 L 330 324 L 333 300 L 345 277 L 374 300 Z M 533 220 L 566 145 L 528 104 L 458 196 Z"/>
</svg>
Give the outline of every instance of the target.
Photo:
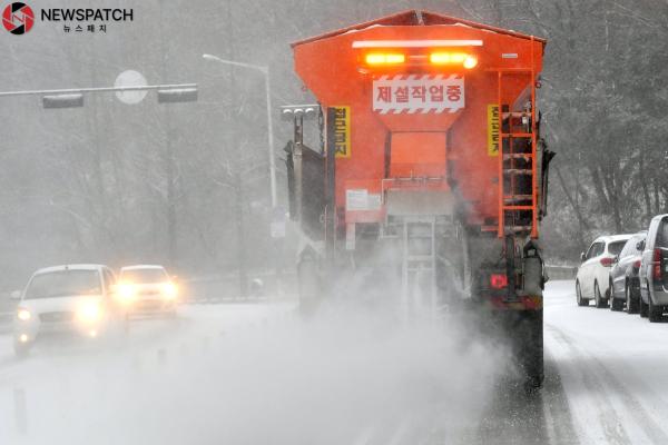
<svg viewBox="0 0 668 445">
<path fill-rule="evenodd" d="M 596 301 L 596 307 L 608 307 L 610 300 L 610 268 L 617 260 L 617 255 L 633 234 L 598 237 L 587 254 L 581 254 L 582 264 L 576 277 L 576 298 L 578 306 L 589 306 L 589 300 Z"/>
</svg>

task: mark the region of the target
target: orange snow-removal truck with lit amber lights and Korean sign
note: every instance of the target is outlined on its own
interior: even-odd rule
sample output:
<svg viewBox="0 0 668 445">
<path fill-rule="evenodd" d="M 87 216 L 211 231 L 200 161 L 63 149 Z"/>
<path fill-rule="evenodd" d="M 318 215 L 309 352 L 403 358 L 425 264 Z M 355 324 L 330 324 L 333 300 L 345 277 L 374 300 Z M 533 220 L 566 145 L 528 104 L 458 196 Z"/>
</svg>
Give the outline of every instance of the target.
<svg viewBox="0 0 668 445">
<path fill-rule="evenodd" d="M 365 293 L 396 290 L 379 298 L 412 319 L 473 308 L 502 320 L 540 386 L 546 40 L 411 10 L 292 47 L 318 102 L 283 107 L 302 309 L 364 280 Z M 304 144 L 310 116 L 315 149 Z"/>
</svg>

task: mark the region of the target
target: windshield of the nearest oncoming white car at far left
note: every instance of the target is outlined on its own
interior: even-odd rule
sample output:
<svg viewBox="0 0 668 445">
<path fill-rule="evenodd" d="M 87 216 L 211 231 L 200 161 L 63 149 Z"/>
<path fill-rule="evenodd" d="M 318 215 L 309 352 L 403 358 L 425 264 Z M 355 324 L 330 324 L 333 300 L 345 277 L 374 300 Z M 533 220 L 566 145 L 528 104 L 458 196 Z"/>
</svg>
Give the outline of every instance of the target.
<svg viewBox="0 0 668 445">
<path fill-rule="evenodd" d="M 96 270 L 59 270 L 32 277 L 24 298 L 71 297 L 101 293 L 100 276 Z"/>
</svg>

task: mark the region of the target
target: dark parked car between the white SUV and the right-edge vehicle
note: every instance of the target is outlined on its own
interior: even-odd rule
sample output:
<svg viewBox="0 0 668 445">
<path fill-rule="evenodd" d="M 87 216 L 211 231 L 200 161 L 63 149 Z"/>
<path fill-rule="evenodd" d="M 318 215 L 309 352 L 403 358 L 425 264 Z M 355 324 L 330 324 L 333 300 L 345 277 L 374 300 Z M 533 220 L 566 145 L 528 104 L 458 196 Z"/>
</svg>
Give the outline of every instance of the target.
<svg viewBox="0 0 668 445">
<path fill-rule="evenodd" d="M 642 251 L 639 243 L 647 237 L 647 231 L 633 235 L 625 245 L 610 269 L 610 310 L 621 310 L 625 306 L 628 314 L 638 313 L 640 301 L 640 260 Z"/>
</svg>

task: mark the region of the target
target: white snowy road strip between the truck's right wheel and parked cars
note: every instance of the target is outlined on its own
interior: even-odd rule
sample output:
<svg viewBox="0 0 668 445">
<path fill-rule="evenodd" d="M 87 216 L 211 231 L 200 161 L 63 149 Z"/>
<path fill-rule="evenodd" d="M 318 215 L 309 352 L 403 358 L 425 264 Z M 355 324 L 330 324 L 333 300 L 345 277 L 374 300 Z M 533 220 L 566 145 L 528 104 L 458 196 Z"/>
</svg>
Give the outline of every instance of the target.
<svg viewBox="0 0 668 445">
<path fill-rule="evenodd" d="M 577 307 L 572 281 L 546 298 L 546 352 L 581 444 L 668 444 L 668 323 Z"/>
</svg>

